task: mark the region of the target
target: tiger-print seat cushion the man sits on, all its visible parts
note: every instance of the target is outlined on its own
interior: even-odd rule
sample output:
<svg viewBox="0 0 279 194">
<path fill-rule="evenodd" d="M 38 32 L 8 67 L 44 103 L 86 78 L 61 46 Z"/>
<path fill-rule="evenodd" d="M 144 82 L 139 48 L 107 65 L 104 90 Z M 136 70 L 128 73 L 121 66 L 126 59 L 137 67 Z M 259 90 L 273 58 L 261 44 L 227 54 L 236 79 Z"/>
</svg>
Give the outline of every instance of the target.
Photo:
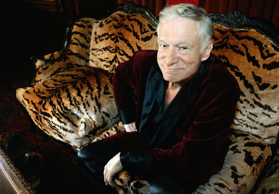
<svg viewBox="0 0 279 194">
<path fill-rule="evenodd" d="M 114 133 L 115 129 L 108 130 L 108 134 Z M 231 144 L 223 168 L 212 175 L 208 183 L 200 185 L 195 194 L 249 193 L 253 189 L 271 156 L 271 148 L 268 143 L 244 132 L 231 131 L 229 139 Z M 150 182 L 144 177 L 135 177 L 127 171 L 121 171 L 114 178 L 119 193 L 147 194 L 149 191 Z"/>
</svg>

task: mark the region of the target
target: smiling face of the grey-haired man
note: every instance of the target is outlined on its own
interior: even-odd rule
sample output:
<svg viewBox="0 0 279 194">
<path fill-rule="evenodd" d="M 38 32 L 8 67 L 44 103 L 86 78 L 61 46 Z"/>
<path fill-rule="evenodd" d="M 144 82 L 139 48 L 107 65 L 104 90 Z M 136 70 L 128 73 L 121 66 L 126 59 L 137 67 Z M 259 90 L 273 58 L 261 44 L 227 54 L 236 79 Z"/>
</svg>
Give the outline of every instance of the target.
<svg viewBox="0 0 279 194">
<path fill-rule="evenodd" d="M 199 23 L 178 17 L 158 29 L 157 61 L 165 80 L 183 85 L 196 74 L 202 60 Z"/>
</svg>

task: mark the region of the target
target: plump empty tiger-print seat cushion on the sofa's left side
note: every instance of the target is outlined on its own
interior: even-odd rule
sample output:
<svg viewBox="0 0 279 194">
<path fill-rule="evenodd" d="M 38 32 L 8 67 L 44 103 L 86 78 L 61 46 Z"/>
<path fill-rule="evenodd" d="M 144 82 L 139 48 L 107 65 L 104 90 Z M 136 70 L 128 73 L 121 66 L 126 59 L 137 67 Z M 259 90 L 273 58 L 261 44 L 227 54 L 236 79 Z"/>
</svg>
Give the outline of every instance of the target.
<svg viewBox="0 0 279 194">
<path fill-rule="evenodd" d="M 47 135 L 80 150 L 119 121 L 112 78 L 94 67 L 76 67 L 17 89 L 17 98 Z"/>
</svg>

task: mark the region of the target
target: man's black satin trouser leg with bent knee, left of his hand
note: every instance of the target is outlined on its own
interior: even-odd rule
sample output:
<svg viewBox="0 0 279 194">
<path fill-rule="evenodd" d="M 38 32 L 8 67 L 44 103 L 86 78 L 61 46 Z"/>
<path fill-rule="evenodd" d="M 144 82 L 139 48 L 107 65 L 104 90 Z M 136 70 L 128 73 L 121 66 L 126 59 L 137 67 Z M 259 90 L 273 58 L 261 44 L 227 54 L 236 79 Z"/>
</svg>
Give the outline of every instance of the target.
<svg viewBox="0 0 279 194">
<path fill-rule="evenodd" d="M 90 193 L 116 193 L 104 181 L 104 167 L 119 150 L 103 143 L 103 140 L 91 143 L 78 152 L 77 162 L 81 175 L 89 182 Z M 91 192 L 92 191 L 92 192 Z"/>
</svg>

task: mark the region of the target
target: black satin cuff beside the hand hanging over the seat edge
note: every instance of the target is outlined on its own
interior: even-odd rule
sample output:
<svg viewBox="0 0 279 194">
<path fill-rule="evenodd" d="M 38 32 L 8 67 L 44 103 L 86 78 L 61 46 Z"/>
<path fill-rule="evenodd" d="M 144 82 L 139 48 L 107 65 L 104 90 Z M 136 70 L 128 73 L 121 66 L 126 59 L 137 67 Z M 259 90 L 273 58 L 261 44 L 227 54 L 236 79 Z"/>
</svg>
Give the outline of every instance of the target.
<svg viewBox="0 0 279 194">
<path fill-rule="evenodd" d="M 137 175 L 152 174 L 152 150 L 132 149 L 120 152 L 120 162 L 124 170 Z"/>
</svg>

